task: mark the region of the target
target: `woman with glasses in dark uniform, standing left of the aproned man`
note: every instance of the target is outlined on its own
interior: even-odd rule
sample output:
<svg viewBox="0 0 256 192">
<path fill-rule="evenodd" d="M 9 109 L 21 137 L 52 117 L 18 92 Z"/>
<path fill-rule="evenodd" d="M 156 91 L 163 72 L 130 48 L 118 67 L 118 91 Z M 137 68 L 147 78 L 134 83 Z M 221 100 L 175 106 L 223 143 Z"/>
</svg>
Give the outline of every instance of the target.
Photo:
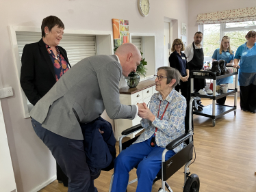
<svg viewBox="0 0 256 192">
<path fill-rule="evenodd" d="M 176 68 L 181 73 L 181 81 L 175 87 L 175 90 L 179 92 L 181 90 L 181 95 L 188 100 L 188 77 L 190 77 L 190 70 L 188 69 L 187 57 L 181 51 L 184 51 L 185 47 L 181 39 L 175 39 L 172 43 L 172 54 L 170 54 L 169 62 L 170 67 Z"/>
</svg>

